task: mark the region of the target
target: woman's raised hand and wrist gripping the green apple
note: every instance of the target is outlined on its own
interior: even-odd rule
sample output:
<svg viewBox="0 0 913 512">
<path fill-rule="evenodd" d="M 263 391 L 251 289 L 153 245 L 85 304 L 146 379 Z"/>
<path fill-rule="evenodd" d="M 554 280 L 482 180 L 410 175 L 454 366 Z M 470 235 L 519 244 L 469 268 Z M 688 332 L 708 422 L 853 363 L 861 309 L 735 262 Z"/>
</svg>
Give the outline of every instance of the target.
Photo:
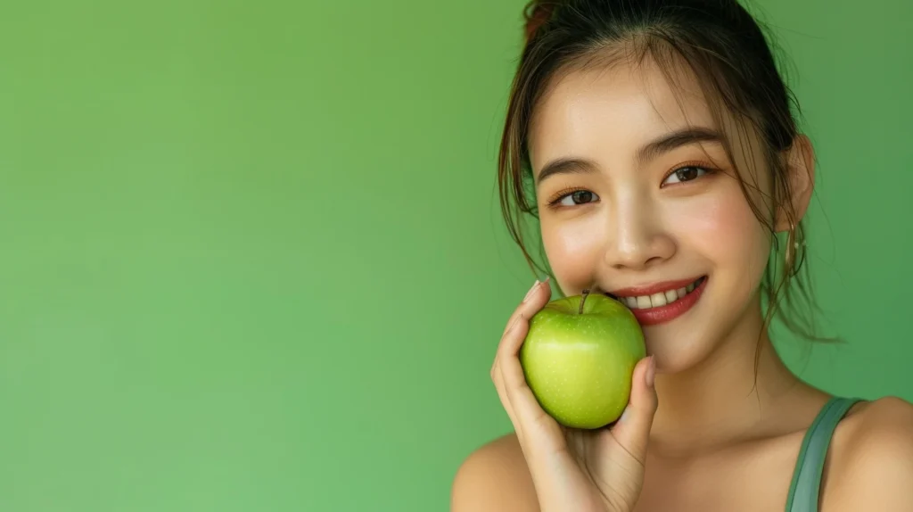
<svg viewBox="0 0 913 512">
<path fill-rule="evenodd" d="M 530 468 L 542 512 L 631 512 L 644 484 L 646 445 L 656 413 L 652 358 L 635 366 L 631 398 L 611 427 L 570 429 L 542 410 L 518 353 L 529 319 L 548 304 L 548 279 L 533 285 L 501 336 L 491 379 Z"/>
</svg>

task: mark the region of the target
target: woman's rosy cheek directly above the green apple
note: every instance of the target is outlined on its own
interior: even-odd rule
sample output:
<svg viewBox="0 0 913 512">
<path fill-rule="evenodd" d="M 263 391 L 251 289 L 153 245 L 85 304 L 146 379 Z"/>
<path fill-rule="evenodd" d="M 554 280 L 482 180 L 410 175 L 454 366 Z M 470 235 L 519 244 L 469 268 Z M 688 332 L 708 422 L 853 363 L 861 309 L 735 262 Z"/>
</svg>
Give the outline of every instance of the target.
<svg viewBox="0 0 913 512">
<path fill-rule="evenodd" d="M 542 245 L 565 293 L 578 293 L 592 284 L 603 256 L 606 228 L 596 215 L 560 221 L 542 218 Z"/>
</svg>

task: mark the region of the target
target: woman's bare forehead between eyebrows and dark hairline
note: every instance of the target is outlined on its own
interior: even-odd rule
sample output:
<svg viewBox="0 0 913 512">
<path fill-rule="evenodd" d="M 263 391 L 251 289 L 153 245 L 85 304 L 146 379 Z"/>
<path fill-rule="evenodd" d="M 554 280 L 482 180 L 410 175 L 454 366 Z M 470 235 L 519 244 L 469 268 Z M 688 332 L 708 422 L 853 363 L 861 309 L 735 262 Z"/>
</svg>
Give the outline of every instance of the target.
<svg viewBox="0 0 913 512">
<path fill-rule="evenodd" d="M 634 154 L 646 141 L 687 126 L 718 129 L 687 68 L 664 69 L 645 58 L 571 70 L 555 78 L 536 105 L 530 157 L 538 168 L 570 154 Z"/>
</svg>

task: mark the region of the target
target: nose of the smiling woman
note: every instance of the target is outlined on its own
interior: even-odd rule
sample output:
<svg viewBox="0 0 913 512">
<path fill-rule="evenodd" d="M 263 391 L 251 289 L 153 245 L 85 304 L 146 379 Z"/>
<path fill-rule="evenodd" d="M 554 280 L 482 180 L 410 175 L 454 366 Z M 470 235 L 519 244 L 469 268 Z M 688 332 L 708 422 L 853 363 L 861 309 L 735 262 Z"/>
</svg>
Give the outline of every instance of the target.
<svg viewBox="0 0 913 512">
<path fill-rule="evenodd" d="M 609 237 L 605 257 L 615 269 L 644 270 L 676 254 L 675 238 L 648 200 L 618 204 L 611 224 L 614 236 Z"/>
</svg>

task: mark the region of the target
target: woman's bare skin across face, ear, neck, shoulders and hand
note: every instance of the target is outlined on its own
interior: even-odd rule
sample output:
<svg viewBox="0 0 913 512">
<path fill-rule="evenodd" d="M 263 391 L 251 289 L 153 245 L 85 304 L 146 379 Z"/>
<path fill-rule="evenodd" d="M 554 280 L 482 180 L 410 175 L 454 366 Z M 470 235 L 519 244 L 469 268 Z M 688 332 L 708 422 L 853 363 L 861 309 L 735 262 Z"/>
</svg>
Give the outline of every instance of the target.
<svg viewBox="0 0 913 512">
<path fill-rule="evenodd" d="M 515 433 L 467 457 L 451 510 L 784 510 L 803 435 L 830 395 L 789 371 L 763 329 L 760 284 L 771 235 L 722 146 L 651 142 L 694 127 L 727 133 L 740 176 L 770 206 L 768 220 L 778 231 L 790 225 L 770 200 L 760 152 L 750 151 L 761 148 L 757 134 L 732 131 L 731 118 L 718 126 L 694 77 L 681 73 L 684 89 L 671 89 L 649 59 L 572 71 L 540 100 L 530 156 L 554 281 L 530 289 L 492 365 Z M 801 217 L 813 191 L 811 143 L 797 138 L 782 158 Z M 541 177 L 560 159 L 576 163 Z M 649 356 L 635 368 L 621 421 L 569 431 L 542 412 L 517 353 L 551 286 L 573 295 L 593 283 L 594 292 L 611 292 L 699 276 L 708 282 L 694 308 L 645 326 Z M 834 433 L 821 510 L 909 511 L 911 489 L 913 406 L 896 397 L 857 404 Z"/>
</svg>

